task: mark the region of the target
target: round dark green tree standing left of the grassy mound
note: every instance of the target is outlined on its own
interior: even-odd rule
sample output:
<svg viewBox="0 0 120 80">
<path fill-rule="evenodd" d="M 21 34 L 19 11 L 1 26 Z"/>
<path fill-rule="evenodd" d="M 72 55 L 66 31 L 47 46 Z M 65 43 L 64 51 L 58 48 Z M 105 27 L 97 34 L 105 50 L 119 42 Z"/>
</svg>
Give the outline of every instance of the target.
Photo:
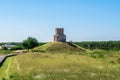
<svg viewBox="0 0 120 80">
<path fill-rule="evenodd" d="M 23 40 L 22 45 L 24 48 L 28 49 L 29 51 L 29 49 L 38 46 L 39 42 L 37 41 L 37 39 L 33 37 L 28 37 L 26 40 Z"/>
</svg>

